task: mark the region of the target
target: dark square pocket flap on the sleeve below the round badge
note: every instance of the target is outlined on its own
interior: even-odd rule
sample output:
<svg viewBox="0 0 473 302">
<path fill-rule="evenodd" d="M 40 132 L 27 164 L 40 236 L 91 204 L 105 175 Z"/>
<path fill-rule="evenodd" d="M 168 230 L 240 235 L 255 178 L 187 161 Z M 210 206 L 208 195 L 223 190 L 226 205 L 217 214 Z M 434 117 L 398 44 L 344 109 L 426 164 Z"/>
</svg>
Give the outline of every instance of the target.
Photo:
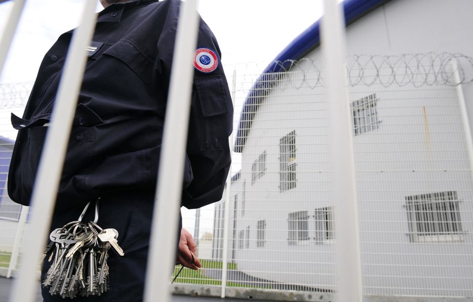
<svg viewBox="0 0 473 302">
<path fill-rule="evenodd" d="M 204 117 L 228 113 L 227 96 L 220 75 L 194 78 Z"/>
</svg>

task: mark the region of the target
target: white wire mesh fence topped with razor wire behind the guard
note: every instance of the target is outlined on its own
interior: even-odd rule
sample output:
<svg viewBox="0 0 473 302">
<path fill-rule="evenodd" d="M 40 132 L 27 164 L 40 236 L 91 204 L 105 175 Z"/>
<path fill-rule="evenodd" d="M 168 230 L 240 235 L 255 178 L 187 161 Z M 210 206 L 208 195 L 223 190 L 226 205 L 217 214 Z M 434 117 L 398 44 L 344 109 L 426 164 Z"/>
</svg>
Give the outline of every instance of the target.
<svg viewBox="0 0 473 302">
<path fill-rule="evenodd" d="M 183 210 L 203 268 L 184 269 L 175 292 L 220 296 L 225 286 L 234 297 L 332 299 L 337 233 L 323 66 L 274 62 L 264 75 L 256 64 L 225 66 L 235 95 L 232 181 L 221 202 Z M 472 58 L 360 55 L 345 66 L 364 295 L 473 297 L 472 154 L 462 94 L 472 85 Z M 0 91 L 12 87 L 20 91 L 0 92 L 0 108 L 21 115 L 28 89 Z M 7 117 L 1 124 L 6 129 Z M 4 136 L 6 179 L 15 133 Z M 19 206 L 6 196 L 3 190 L 0 262 L 7 266 Z M 3 212 L 11 217 L 1 219 Z"/>
</svg>

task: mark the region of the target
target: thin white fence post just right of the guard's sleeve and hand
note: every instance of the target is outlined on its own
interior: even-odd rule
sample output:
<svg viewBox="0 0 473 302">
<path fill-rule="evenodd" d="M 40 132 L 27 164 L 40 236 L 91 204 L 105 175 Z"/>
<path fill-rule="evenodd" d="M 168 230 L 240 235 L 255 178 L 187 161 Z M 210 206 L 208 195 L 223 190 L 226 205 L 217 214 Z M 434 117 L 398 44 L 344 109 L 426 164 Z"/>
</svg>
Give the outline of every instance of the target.
<svg viewBox="0 0 473 302">
<path fill-rule="evenodd" d="M 233 81 L 232 81 L 232 103 L 235 102 L 235 93 L 236 93 L 236 69 L 233 70 Z M 230 145 L 230 154 L 233 158 L 233 131 L 229 137 Z M 228 232 L 230 226 L 230 197 L 232 188 L 232 166 L 230 166 L 230 171 L 227 176 L 227 191 L 225 195 L 225 207 L 224 207 L 224 220 L 223 220 L 223 257 L 222 257 L 222 293 L 221 298 L 225 298 L 225 291 L 227 289 L 227 274 L 228 274 Z M 235 201 L 236 202 L 236 201 Z M 236 219 L 236 217 L 234 217 Z"/>
</svg>

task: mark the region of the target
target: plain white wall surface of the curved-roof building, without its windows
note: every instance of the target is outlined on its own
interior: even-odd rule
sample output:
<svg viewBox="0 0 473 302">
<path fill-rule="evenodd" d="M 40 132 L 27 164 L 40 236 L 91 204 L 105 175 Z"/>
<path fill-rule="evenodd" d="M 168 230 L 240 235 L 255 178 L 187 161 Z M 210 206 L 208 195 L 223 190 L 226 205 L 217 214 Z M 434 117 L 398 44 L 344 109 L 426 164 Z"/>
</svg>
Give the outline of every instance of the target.
<svg viewBox="0 0 473 302">
<path fill-rule="evenodd" d="M 348 53 L 445 51 L 473 57 L 472 11 L 473 1 L 467 0 L 392 0 L 348 27 Z M 319 49 L 307 57 L 320 58 Z M 292 77 L 297 82 L 297 73 Z M 252 241 L 249 249 L 237 250 L 236 263 L 252 276 L 329 288 L 334 244 L 287 243 L 288 213 L 331 203 L 325 91 L 299 80 L 297 89 L 282 80 L 270 93 L 246 140 L 241 166 L 246 211 L 237 223 L 238 229 L 250 225 Z M 469 110 L 472 87 L 463 86 Z M 472 174 L 456 88 L 357 86 L 350 88 L 350 101 L 372 93 L 379 99 L 379 129 L 354 139 L 364 294 L 472 297 L 472 234 L 462 242 L 409 242 L 403 207 L 406 196 L 457 191 L 463 229 L 473 229 Z M 297 187 L 280 192 L 278 144 L 292 130 Z M 265 150 L 266 174 L 251 184 L 251 165 Z M 260 219 L 267 220 L 265 247 L 256 246 Z"/>
</svg>

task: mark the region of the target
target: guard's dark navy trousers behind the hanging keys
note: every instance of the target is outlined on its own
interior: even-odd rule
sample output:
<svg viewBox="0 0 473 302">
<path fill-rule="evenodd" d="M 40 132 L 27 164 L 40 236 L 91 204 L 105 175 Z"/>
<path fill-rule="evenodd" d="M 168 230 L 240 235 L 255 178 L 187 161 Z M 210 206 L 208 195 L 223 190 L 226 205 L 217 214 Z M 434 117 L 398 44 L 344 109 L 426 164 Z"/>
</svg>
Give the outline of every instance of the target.
<svg viewBox="0 0 473 302">
<path fill-rule="evenodd" d="M 103 229 L 116 229 L 119 234 L 118 244 L 125 252 L 125 256 L 122 257 L 116 254 L 113 248 L 108 251 L 110 289 L 101 296 L 64 299 L 58 295 L 51 296 L 47 288 L 42 288 L 43 302 L 141 302 L 146 276 L 153 203 L 154 192 L 122 192 L 115 196 L 102 196 L 97 224 Z M 83 208 L 75 208 L 67 212 L 55 212 L 51 230 L 77 220 L 82 210 Z M 94 204 L 91 203 L 82 221 L 93 220 L 94 212 Z M 182 221 L 180 223 L 182 225 Z M 178 233 L 179 236 L 180 228 Z M 51 263 L 48 263 L 46 259 L 41 269 L 41 282 L 50 265 Z"/>
</svg>

